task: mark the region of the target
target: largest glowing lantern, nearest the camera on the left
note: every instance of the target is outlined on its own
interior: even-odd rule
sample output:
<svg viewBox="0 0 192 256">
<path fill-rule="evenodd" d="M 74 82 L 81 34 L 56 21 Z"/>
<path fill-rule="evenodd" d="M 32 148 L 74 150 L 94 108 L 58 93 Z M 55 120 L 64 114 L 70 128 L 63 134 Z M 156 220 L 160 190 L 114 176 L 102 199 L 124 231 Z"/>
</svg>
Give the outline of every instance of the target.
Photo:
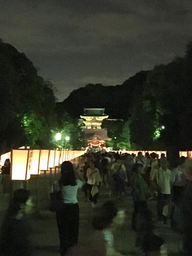
<svg viewBox="0 0 192 256">
<path fill-rule="evenodd" d="M 13 149 L 11 151 L 11 180 L 26 181 L 30 179 L 28 170 L 29 150 Z"/>
</svg>

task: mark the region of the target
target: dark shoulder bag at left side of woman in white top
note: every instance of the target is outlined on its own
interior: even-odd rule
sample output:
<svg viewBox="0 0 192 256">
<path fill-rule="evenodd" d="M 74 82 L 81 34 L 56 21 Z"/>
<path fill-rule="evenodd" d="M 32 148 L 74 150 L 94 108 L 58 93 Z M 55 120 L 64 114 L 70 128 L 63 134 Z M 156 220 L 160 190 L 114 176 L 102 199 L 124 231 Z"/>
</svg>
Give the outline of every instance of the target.
<svg viewBox="0 0 192 256">
<path fill-rule="evenodd" d="M 60 190 L 55 190 L 55 184 L 53 184 L 53 193 L 50 193 L 50 211 L 52 212 L 60 212 L 64 208 L 64 204 L 62 201 L 62 193 L 61 193 L 61 184 L 59 181 Z"/>
</svg>

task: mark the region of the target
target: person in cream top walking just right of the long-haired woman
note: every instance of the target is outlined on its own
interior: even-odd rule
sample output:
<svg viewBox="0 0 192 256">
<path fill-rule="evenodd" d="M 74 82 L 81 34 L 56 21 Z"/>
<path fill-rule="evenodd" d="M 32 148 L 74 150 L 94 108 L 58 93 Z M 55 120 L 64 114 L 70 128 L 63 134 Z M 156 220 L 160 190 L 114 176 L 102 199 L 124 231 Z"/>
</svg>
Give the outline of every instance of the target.
<svg viewBox="0 0 192 256">
<path fill-rule="evenodd" d="M 89 162 L 89 168 L 87 169 L 86 176 L 87 184 L 89 185 L 89 200 L 92 203 L 92 207 L 96 207 L 99 192 L 98 185 L 101 182 L 101 176 L 93 161 Z"/>
</svg>

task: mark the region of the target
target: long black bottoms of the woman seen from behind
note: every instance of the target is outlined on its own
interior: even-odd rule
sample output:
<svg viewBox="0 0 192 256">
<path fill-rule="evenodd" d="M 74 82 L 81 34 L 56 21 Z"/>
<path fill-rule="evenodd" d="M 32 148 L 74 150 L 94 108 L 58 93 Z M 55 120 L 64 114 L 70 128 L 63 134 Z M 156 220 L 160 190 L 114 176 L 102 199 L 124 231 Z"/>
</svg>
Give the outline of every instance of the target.
<svg viewBox="0 0 192 256">
<path fill-rule="evenodd" d="M 60 235 L 60 253 L 64 255 L 68 249 L 78 242 L 79 206 L 78 204 L 63 204 L 60 212 L 56 212 L 57 226 Z"/>
</svg>

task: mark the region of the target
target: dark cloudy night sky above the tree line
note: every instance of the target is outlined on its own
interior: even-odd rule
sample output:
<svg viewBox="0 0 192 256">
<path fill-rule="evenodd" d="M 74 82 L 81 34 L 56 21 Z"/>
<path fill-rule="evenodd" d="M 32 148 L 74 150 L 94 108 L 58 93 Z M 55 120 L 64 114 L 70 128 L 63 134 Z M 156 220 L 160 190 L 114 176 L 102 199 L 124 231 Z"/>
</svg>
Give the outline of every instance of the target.
<svg viewBox="0 0 192 256">
<path fill-rule="evenodd" d="M 54 83 L 61 101 L 80 86 L 122 84 L 183 55 L 192 0 L 0 0 L 0 37 Z"/>
</svg>

